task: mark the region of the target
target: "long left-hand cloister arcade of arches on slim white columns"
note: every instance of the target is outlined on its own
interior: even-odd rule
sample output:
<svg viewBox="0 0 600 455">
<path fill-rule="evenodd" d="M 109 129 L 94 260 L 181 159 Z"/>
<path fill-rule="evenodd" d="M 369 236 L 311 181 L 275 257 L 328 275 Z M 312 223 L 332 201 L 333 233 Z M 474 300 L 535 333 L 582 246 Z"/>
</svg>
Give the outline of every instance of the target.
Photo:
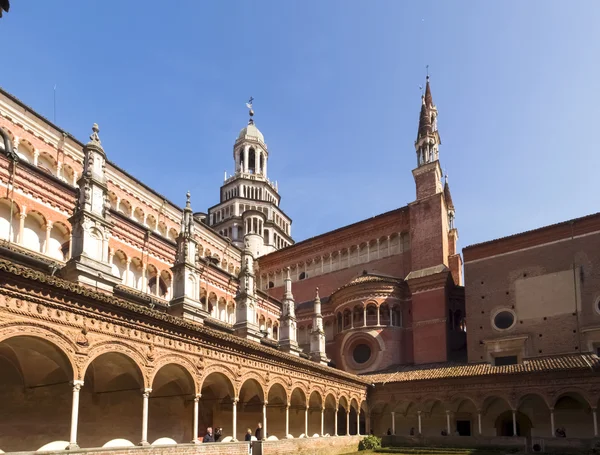
<svg viewBox="0 0 600 455">
<path fill-rule="evenodd" d="M 90 352 L 77 376 L 52 341 L 37 335 L 3 339 L 0 448 L 36 450 L 52 441 L 101 447 L 114 439 L 188 443 L 209 425 L 223 427 L 223 438 L 243 440 L 258 422 L 279 439 L 365 431 L 365 404 L 355 397 L 279 381 L 265 387 L 258 374 L 238 386 L 226 368 L 215 367 L 202 378 L 194 370 L 166 358 L 149 372 L 135 355 L 105 346 Z"/>
</svg>

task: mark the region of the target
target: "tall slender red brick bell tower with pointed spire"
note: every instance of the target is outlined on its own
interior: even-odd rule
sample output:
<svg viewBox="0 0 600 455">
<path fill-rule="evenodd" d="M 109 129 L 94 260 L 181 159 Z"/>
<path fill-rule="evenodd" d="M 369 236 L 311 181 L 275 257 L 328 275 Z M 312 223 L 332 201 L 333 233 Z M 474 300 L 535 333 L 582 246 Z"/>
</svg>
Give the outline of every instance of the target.
<svg viewBox="0 0 600 455">
<path fill-rule="evenodd" d="M 409 204 L 411 271 L 405 280 L 412 294 L 413 358 L 416 364 L 446 362 L 449 332 L 446 317 L 451 289 L 462 284 L 458 231 L 450 187 L 442 184 L 438 111 L 429 75 L 421 97 L 413 169 L 416 199 Z"/>
</svg>

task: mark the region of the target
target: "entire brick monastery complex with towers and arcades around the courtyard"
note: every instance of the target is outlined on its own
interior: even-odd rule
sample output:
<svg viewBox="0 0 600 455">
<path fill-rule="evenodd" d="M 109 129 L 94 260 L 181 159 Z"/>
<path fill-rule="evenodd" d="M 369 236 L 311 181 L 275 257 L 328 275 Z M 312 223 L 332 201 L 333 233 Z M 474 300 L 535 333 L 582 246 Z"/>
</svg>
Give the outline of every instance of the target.
<svg viewBox="0 0 600 455">
<path fill-rule="evenodd" d="M 600 215 L 466 248 L 463 286 L 428 78 L 414 201 L 295 243 L 249 108 L 203 213 L 113 164 L 97 125 L 79 142 L 0 92 L 0 449 L 243 440 L 259 421 L 348 435 L 277 453 L 388 429 L 597 435 Z"/>
</svg>

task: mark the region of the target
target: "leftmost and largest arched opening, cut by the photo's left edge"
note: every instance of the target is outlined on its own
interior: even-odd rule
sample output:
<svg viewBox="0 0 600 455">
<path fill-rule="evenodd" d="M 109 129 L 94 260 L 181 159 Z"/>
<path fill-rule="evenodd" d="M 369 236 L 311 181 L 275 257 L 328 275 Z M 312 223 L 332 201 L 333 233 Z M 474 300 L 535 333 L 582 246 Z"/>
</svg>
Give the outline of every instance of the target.
<svg viewBox="0 0 600 455">
<path fill-rule="evenodd" d="M 67 355 L 50 341 L 16 336 L 0 342 L 2 450 L 33 451 L 68 441 L 72 380 Z"/>
</svg>

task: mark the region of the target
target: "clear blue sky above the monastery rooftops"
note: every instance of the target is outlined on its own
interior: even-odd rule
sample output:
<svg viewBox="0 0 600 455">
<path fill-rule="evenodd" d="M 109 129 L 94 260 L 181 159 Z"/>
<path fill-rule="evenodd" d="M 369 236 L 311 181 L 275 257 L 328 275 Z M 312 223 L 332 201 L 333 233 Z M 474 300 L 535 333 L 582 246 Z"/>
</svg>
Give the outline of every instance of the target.
<svg viewBox="0 0 600 455">
<path fill-rule="evenodd" d="M 460 244 L 598 211 L 595 1 L 15 0 L 0 85 L 173 202 L 218 201 L 255 98 L 298 240 L 415 197 L 429 65 Z"/>
</svg>

